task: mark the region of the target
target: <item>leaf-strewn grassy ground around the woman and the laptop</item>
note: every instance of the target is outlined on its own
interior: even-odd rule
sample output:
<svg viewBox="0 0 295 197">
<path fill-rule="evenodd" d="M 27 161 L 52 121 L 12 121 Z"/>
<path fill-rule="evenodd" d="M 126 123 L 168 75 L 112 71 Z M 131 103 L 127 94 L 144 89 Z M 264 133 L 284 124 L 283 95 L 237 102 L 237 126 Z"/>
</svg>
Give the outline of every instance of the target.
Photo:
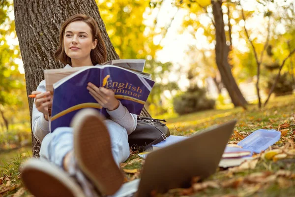
<svg viewBox="0 0 295 197">
<path fill-rule="evenodd" d="M 233 144 L 257 129 L 276 129 L 282 132 L 282 137 L 279 142 L 272 146 L 272 149 L 282 151 L 280 154 L 282 157 L 281 159 L 273 159 L 268 155 L 269 157 L 266 159 L 264 155 L 257 155 L 257 159 L 252 160 L 254 163 L 249 162 L 235 168 L 219 168 L 214 175 L 203 182 L 198 182 L 198 178 L 195 177 L 189 188 L 170 190 L 166 194 L 154 192 L 152 196 L 295 196 L 295 156 L 285 154 L 289 151 L 288 153 L 295 155 L 294 109 L 295 96 L 285 96 L 271 100 L 263 109 L 258 109 L 257 105 L 250 105 L 247 110 L 242 108 L 210 110 L 168 119 L 167 125 L 172 134 L 186 136 L 212 125 L 237 119 L 238 123 L 235 128 L 237 132 L 230 139 L 230 143 Z M 22 194 L 21 196 L 28 196 L 18 179 L 19 163 L 19 159 L 14 160 L 14 163 L 12 162 L 8 169 L 2 168 L 0 172 L 0 196 L 11 196 L 17 191 Z M 143 164 L 144 160 L 139 158 L 137 153 L 131 154 L 130 158 L 121 164 L 126 172 L 125 181 L 140 177 L 140 169 Z M 1 177 L 4 177 L 2 183 Z M 8 181 L 10 181 L 9 184 L 7 184 Z"/>
</svg>

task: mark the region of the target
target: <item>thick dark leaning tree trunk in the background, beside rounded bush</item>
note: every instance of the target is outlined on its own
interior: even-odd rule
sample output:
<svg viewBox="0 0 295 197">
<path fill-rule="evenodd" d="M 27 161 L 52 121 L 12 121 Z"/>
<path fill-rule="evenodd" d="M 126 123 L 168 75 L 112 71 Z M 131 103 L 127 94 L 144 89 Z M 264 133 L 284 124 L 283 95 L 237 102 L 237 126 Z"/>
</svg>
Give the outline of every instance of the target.
<svg viewBox="0 0 295 197">
<path fill-rule="evenodd" d="M 239 90 L 236 80 L 232 74 L 231 66 L 228 63 L 229 47 L 226 44 L 221 4 L 221 0 L 212 0 L 213 16 L 216 29 L 216 64 L 220 72 L 222 82 L 227 89 L 232 102 L 235 106 L 243 106 L 245 108 L 248 103 Z"/>
</svg>

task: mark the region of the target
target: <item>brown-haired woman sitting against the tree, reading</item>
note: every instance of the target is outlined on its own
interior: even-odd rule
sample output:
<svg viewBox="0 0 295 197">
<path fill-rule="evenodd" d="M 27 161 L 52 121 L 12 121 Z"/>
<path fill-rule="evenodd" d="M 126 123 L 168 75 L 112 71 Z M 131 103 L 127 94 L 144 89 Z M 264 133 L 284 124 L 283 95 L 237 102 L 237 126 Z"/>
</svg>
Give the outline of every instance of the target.
<svg viewBox="0 0 295 197">
<path fill-rule="evenodd" d="M 99 65 L 106 56 L 93 18 L 76 14 L 64 21 L 55 58 L 65 68 Z M 123 182 L 118 165 L 129 157 L 128 134 L 135 130 L 137 116 L 129 113 L 112 90 L 92 83 L 85 88 L 107 109 L 110 119 L 102 120 L 94 109 L 83 109 L 75 115 L 71 127 L 52 132 L 47 116 L 52 98 L 45 90 L 45 81 L 31 93 L 36 95 L 32 131 L 41 141 L 41 159 L 29 160 L 21 171 L 26 187 L 36 197 L 95 196 L 97 191 L 113 195 Z M 84 191 L 69 175 L 75 176 Z"/>
</svg>

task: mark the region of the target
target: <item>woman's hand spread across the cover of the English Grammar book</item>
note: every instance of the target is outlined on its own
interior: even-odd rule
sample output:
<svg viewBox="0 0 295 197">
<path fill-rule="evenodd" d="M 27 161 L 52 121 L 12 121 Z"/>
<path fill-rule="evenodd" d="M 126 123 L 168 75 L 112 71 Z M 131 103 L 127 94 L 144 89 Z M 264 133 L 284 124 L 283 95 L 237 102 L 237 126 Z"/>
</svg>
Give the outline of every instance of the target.
<svg viewBox="0 0 295 197">
<path fill-rule="evenodd" d="M 93 83 L 87 84 L 89 94 L 104 108 L 113 111 L 118 108 L 119 101 L 115 97 L 115 93 L 111 89 L 97 87 Z"/>
</svg>

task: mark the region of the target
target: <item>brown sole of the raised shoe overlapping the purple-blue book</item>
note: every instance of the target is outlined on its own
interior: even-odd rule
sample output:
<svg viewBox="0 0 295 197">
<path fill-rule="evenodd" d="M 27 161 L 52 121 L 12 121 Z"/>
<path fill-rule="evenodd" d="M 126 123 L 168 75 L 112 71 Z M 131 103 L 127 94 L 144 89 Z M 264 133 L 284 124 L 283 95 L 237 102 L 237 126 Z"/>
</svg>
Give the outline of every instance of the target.
<svg viewBox="0 0 295 197">
<path fill-rule="evenodd" d="M 123 184 L 123 175 L 113 158 L 109 132 L 96 110 L 78 113 L 72 121 L 77 163 L 99 192 L 113 195 Z"/>
</svg>

